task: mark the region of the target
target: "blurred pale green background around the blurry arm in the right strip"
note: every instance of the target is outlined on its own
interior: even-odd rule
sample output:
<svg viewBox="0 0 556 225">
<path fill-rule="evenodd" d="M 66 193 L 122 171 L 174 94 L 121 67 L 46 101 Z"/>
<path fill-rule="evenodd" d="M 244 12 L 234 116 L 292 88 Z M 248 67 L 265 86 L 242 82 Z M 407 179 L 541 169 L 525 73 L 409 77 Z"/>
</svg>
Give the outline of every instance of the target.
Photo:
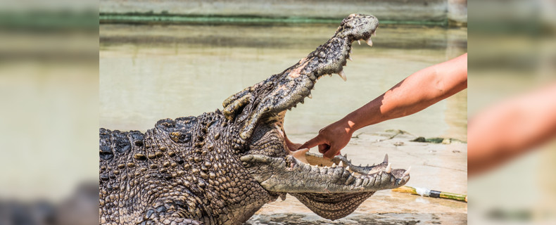
<svg viewBox="0 0 556 225">
<path fill-rule="evenodd" d="M 555 1 L 474 1 L 469 12 L 469 120 L 500 102 L 554 89 Z M 548 99 L 556 104 L 556 96 Z M 469 178 L 469 224 L 555 224 L 555 132 L 552 141 Z"/>
</svg>

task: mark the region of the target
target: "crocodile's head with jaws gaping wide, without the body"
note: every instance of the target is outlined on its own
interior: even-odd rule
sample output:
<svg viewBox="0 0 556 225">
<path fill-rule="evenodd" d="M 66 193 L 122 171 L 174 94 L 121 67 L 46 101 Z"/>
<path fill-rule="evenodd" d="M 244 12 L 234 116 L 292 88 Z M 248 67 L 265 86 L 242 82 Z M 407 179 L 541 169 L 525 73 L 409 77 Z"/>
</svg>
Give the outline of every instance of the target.
<svg viewBox="0 0 556 225">
<path fill-rule="evenodd" d="M 339 219 L 353 212 L 375 191 L 402 186 L 409 171 L 392 169 L 386 156 L 374 166 L 356 166 L 346 156 L 331 160 L 297 150 L 284 131 L 287 110 L 311 98 L 315 82 L 324 75 L 338 74 L 350 59 L 353 41 L 372 46 L 371 35 L 379 21 L 372 15 L 352 14 L 343 19 L 325 44 L 318 46 L 296 65 L 227 98 L 223 103 L 227 120 L 238 127 L 236 142 L 245 146 L 241 161 L 267 191 L 285 198 L 298 198 L 316 214 Z"/>
</svg>

